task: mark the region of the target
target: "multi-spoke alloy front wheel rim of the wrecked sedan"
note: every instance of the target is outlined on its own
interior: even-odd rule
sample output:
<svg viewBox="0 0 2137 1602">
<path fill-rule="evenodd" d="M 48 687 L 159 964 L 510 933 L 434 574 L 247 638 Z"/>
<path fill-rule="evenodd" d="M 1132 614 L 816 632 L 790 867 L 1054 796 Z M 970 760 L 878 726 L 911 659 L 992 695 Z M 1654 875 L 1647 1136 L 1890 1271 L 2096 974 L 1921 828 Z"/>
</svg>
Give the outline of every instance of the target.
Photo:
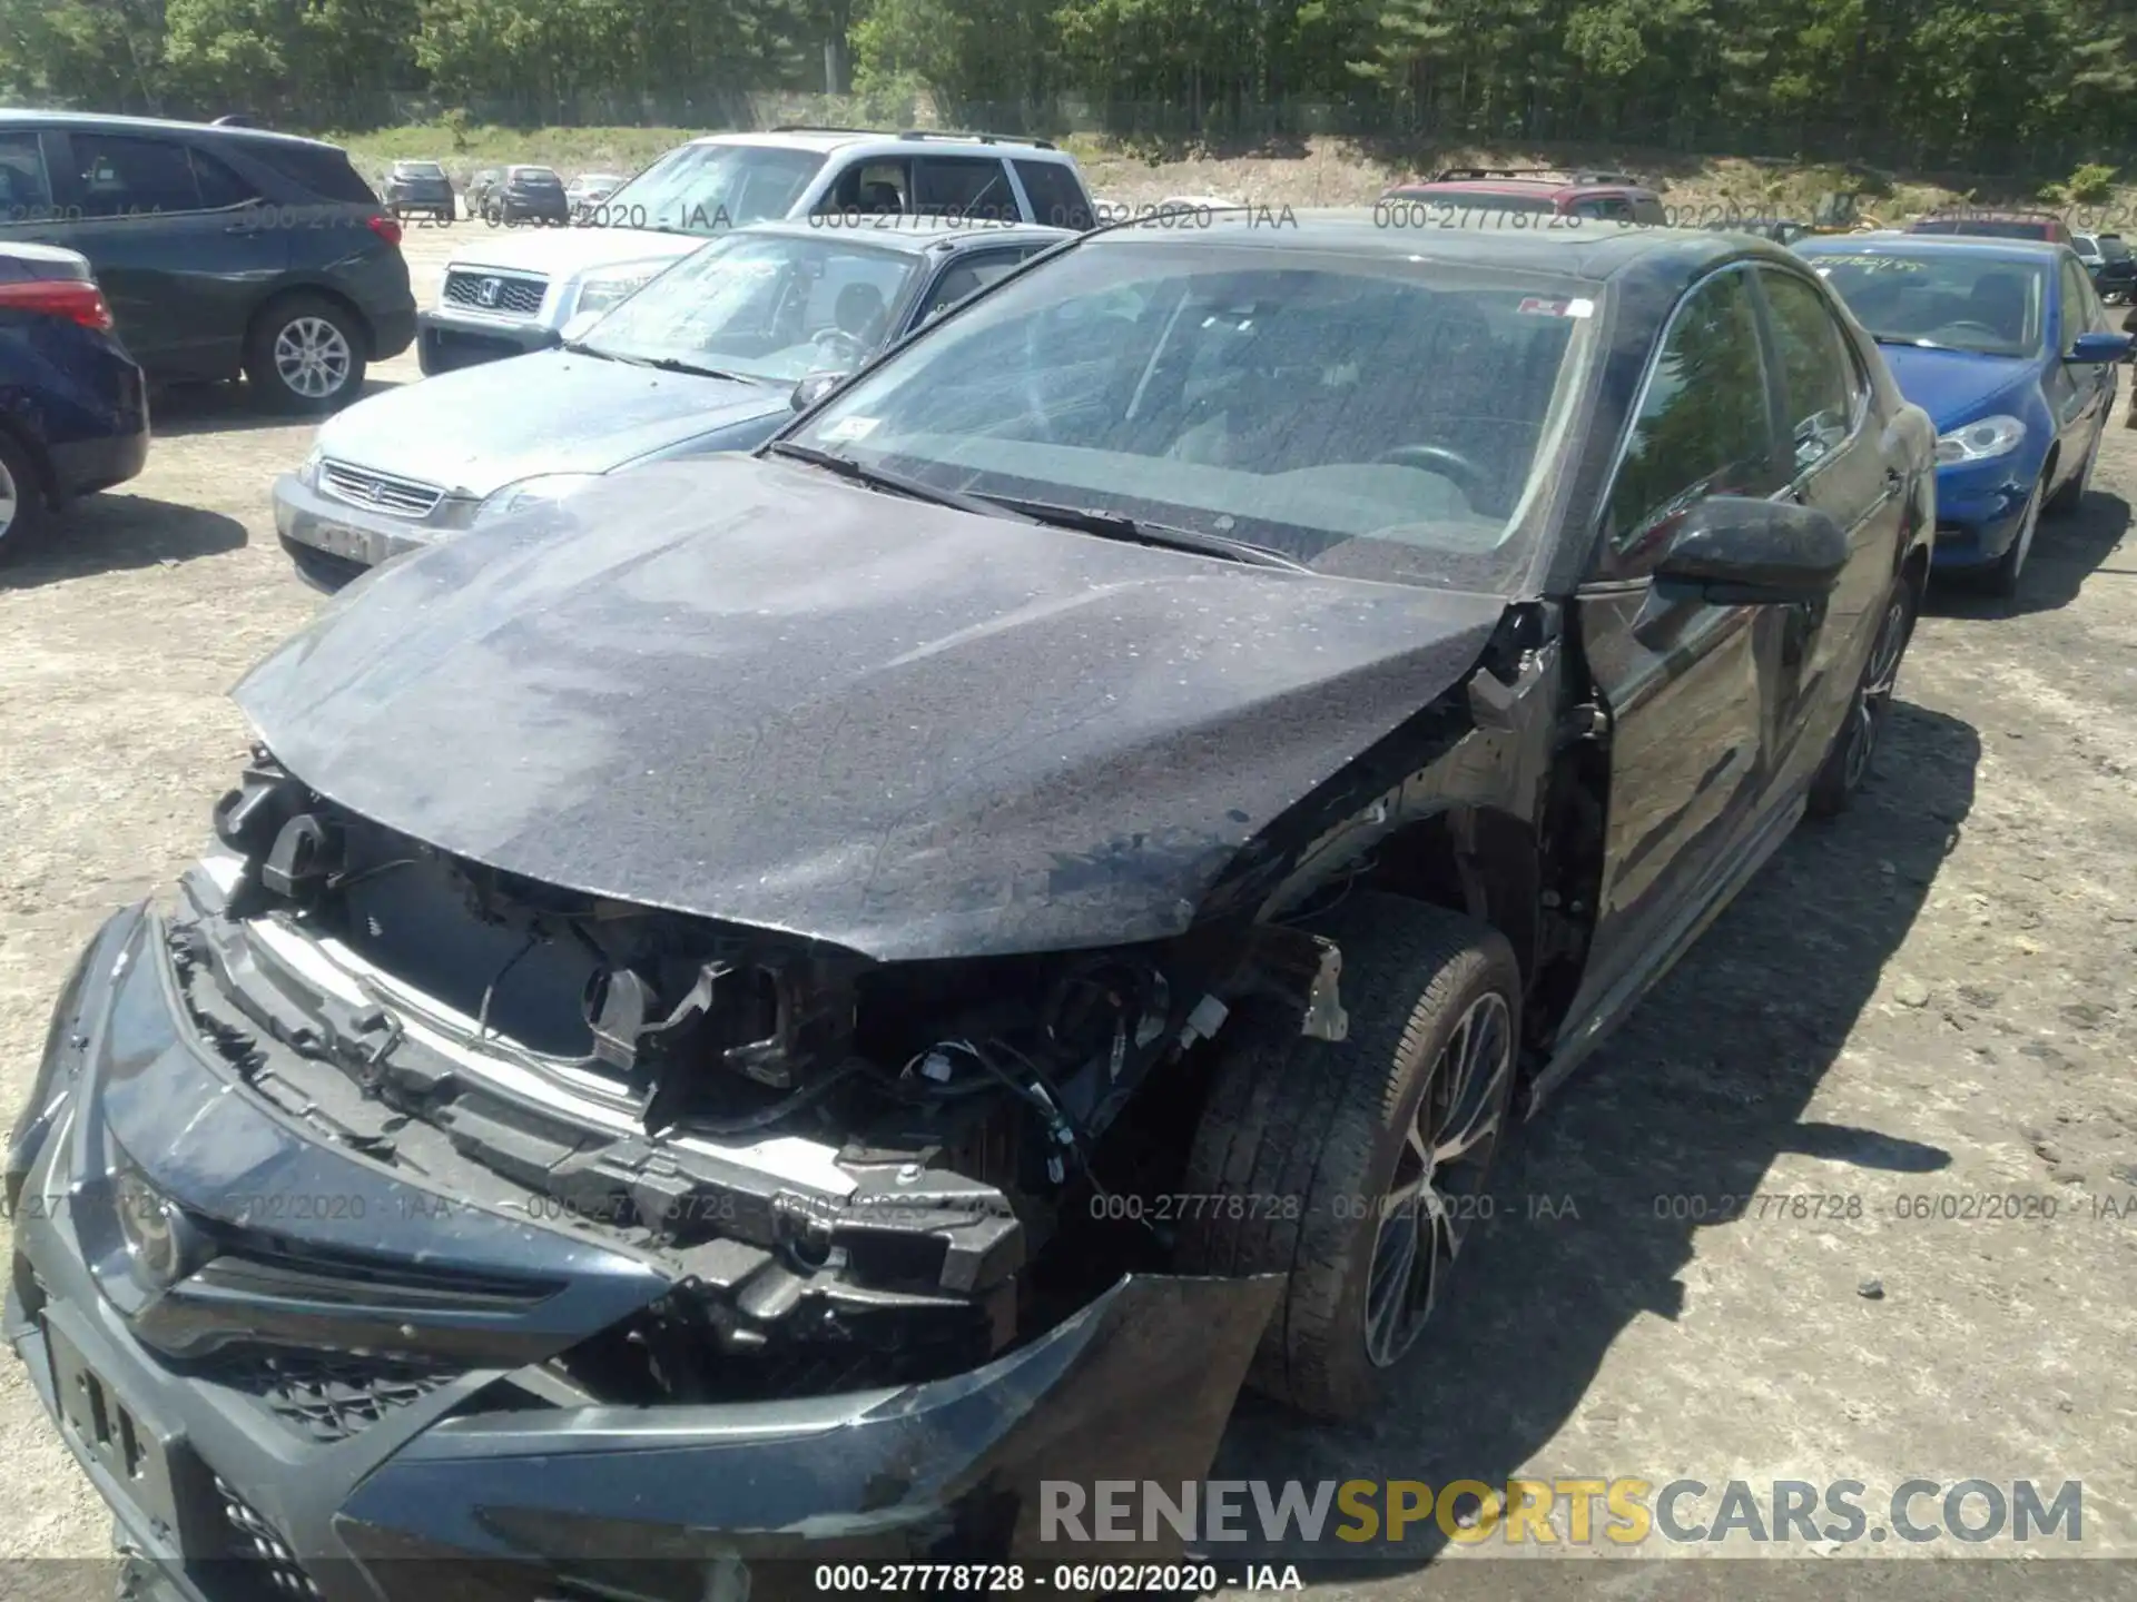
<svg viewBox="0 0 2137 1602">
<path fill-rule="evenodd" d="M 1438 1303 L 1492 1166 L 1511 1074 L 1513 1017 L 1507 998 L 1489 991 L 1440 1047 L 1395 1153 L 1366 1271 L 1366 1356 L 1374 1367 L 1398 1363 Z"/>
</svg>

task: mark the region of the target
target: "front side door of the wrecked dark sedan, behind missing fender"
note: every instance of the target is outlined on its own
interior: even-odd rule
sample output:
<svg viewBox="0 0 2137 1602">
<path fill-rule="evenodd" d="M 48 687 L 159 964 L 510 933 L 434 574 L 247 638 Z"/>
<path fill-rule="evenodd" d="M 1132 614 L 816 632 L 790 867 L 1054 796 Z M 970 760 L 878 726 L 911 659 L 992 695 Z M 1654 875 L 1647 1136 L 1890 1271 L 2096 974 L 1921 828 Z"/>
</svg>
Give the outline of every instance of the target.
<svg viewBox="0 0 2137 1602">
<path fill-rule="evenodd" d="M 1697 931 L 1774 829 L 1776 675 L 1797 624 L 1789 609 L 1671 602 L 1654 587 L 1695 504 L 1789 493 L 1774 391 L 1750 269 L 1699 280 L 1658 340 L 1603 500 L 1575 598 L 1609 720 L 1596 927 L 1569 1012 L 1592 1027 Z"/>
</svg>

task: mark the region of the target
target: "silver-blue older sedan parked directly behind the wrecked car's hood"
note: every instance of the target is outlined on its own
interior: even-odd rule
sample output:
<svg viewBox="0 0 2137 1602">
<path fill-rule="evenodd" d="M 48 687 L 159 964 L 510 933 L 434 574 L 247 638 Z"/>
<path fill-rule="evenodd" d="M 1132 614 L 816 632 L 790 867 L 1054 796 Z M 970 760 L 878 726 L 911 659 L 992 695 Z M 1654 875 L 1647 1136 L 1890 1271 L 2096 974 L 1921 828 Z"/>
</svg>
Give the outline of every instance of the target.
<svg viewBox="0 0 2137 1602">
<path fill-rule="evenodd" d="M 338 587 L 368 566 L 600 474 L 748 451 L 887 344 L 1073 235 L 1030 224 L 878 218 L 759 222 L 703 244 L 558 350 L 374 395 L 329 421 L 274 513 L 297 570 Z"/>
</svg>

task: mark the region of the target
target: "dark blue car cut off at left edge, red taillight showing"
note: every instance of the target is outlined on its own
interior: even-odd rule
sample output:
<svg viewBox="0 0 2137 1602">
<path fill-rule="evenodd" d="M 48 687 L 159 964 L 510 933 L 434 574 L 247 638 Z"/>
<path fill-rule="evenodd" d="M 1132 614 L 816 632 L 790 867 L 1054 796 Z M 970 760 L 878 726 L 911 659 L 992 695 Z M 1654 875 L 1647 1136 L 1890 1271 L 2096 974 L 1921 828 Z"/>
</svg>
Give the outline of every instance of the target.
<svg viewBox="0 0 2137 1602">
<path fill-rule="evenodd" d="M 147 380 L 111 333 L 90 258 L 0 244 L 0 562 L 147 461 Z"/>
</svg>

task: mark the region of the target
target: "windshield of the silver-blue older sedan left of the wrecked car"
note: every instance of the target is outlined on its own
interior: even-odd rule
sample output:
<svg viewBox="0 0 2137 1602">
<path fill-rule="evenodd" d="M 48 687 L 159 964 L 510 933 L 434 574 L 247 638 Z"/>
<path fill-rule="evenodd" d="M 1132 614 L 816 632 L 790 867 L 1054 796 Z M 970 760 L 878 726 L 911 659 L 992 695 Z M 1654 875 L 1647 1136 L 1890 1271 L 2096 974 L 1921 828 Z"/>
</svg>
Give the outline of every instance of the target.
<svg viewBox="0 0 2137 1602">
<path fill-rule="evenodd" d="M 765 382 L 853 370 L 883 344 L 919 263 L 836 231 L 727 235 L 609 312 L 579 348 Z"/>
</svg>

